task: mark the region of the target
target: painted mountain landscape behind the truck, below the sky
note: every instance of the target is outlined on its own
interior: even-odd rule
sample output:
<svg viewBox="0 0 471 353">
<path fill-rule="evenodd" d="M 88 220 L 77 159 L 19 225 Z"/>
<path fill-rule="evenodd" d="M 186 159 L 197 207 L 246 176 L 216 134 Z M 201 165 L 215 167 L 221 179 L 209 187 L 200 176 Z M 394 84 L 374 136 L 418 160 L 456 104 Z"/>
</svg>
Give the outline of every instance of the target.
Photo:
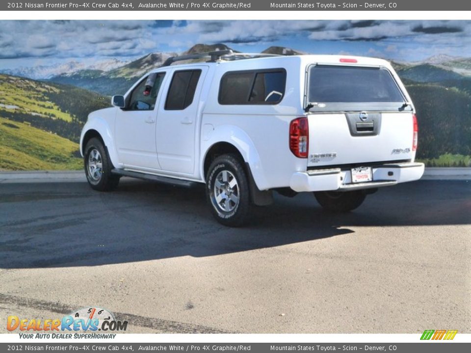
<svg viewBox="0 0 471 353">
<path fill-rule="evenodd" d="M 198 44 L 183 53 L 225 49 L 230 48 Z M 305 53 L 275 46 L 262 52 Z M 80 168 L 78 138 L 88 113 L 108 106 L 109 96 L 124 94 L 139 76 L 172 55 L 153 52 L 131 61 L 3 70 L 0 170 Z M 418 111 L 418 158 L 429 165 L 470 166 L 471 58 L 438 55 L 393 65 Z"/>
</svg>

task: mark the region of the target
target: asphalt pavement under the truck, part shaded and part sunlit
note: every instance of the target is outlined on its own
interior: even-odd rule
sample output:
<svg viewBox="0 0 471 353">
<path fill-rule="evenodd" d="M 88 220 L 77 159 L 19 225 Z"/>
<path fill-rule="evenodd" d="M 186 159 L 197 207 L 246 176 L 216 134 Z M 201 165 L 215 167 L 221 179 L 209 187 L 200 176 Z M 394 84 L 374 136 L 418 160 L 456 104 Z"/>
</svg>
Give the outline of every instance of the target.
<svg viewBox="0 0 471 353">
<path fill-rule="evenodd" d="M 101 306 L 131 333 L 471 333 L 471 181 L 379 190 L 347 214 L 310 194 L 213 220 L 203 188 L 0 184 L 6 317 Z"/>
</svg>

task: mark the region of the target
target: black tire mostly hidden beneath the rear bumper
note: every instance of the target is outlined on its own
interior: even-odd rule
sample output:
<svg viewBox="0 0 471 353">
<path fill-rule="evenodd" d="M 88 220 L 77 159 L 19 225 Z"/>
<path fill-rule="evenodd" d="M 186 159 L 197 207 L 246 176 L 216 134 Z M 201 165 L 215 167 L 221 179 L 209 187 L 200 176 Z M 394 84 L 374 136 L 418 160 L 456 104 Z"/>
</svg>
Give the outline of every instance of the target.
<svg viewBox="0 0 471 353">
<path fill-rule="evenodd" d="M 348 212 L 359 207 L 366 198 L 361 190 L 335 192 L 321 191 L 314 193 L 315 199 L 320 205 L 330 212 Z"/>
</svg>

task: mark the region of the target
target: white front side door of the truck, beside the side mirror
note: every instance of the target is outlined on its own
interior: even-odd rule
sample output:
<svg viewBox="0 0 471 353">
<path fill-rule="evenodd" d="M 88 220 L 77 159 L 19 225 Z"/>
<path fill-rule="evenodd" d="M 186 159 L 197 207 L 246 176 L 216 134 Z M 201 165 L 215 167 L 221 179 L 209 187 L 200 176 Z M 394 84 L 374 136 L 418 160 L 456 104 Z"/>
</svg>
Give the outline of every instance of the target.
<svg viewBox="0 0 471 353">
<path fill-rule="evenodd" d="M 160 169 L 156 149 L 157 104 L 165 72 L 157 79 L 149 95 L 144 95 L 144 77 L 126 96 L 126 107 L 118 109 L 115 121 L 116 148 L 120 163 L 137 170 Z"/>
</svg>

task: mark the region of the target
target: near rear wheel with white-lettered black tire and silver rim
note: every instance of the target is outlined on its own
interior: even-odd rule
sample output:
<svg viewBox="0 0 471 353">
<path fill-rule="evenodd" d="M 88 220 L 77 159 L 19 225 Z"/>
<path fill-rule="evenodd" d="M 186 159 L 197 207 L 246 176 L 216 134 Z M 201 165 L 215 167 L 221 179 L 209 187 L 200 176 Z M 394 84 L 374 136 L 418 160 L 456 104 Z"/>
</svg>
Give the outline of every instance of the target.
<svg viewBox="0 0 471 353">
<path fill-rule="evenodd" d="M 251 206 L 249 183 L 242 163 L 234 154 L 223 154 L 212 161 L 206 176 L 206 196 L 220 224 L 240 227 L 247 223 Z"/>
</svg>

